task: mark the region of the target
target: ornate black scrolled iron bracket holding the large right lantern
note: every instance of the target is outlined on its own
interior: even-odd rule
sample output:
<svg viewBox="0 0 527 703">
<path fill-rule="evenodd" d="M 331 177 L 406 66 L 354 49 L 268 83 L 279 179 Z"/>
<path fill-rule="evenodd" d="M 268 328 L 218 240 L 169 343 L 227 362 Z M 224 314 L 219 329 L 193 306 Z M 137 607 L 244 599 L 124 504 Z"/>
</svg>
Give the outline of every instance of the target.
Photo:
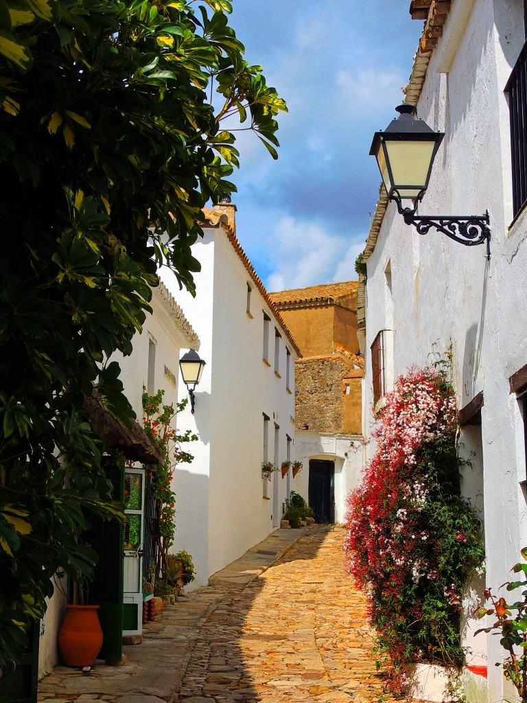
<svg viewBox="0 0 527 703">
<path fill-rule="evenodd" d="M 490 219 L 488 210 L 483 215 L 418 215 L 417 204 L 424 195 L 421 191 L 414 201 L 414 207 L 403 207 L 401 196 L 397 191 L 391 195 L 391 200 L 397 203 L 399 214 L 403 215 L 406 224 L 412 224 L 419 234 L 428 234 L 434 227 L 455 242 L 466 247 L 478 244 L 487 245 L 486 257 L 490 261 Z"/>
</svg>

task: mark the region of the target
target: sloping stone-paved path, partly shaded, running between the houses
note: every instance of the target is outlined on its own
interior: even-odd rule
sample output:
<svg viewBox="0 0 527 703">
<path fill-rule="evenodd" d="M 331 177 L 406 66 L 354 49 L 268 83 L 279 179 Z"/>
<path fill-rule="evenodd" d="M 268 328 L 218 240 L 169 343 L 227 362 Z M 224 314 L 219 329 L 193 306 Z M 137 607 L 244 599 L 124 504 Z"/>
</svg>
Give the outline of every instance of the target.
<svg viewBox="0 0 527 703">
<path fill-rule="evenodd" d="M 275 533 L 282 548 L 297 533 L 284 532 Z M 231 565 L 212 586 L 165 608 L 160 621 L 148 625 L 143 644 L 125 648 L 126 666 L 96 666 L 87 675 L 57 667 L 41 681 L 39 700 L 391 701 L 369 656 L 364 598 L 343 573 L 343 535 L 339 528 L 313 526 L 267 569 L 257 562 L 275 558 L 273 548 L 252 550 L 238 573 Z"/>
</svg>

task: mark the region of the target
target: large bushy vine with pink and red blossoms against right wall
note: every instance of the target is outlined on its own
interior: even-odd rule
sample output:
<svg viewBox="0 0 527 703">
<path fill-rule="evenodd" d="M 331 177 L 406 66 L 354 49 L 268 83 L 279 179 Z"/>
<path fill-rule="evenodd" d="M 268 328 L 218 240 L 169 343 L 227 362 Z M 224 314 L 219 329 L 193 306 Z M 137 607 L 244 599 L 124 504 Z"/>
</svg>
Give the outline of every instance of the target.
<svg viewBox="0 0 527 703">
<path fill-rule="evenodd" d="M 386 395 L 363 482 L 347 498 L 346 568 L 365 589 L 394 690 L 416 661 L 459 668 L 464 587 L 483 562 L 481 522 L 460 495 L 457 406 L 436 368 Z"/>
</svg>

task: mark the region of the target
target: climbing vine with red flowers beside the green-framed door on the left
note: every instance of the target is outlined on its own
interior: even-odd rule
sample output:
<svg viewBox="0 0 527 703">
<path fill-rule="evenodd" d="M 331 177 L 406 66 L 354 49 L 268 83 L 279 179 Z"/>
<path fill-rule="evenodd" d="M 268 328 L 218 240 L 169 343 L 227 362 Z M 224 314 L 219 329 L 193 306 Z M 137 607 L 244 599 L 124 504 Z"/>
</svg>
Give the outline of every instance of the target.
<svg viewBox="0 0 527 703">
<path fill-rule="evenodd" d="M 147 467 L 148 476 L 155 476 L 155 499 L 159 505 L 159 527 L 157 532 L 157 562 L 152 566 L 155 579 L 160 579 L 167 585 L 167 556 L 169 548 L 174 543 L 176 531 L 176 494 L 172 490 L 171 481 L 176 466 L 180 463 L 190 463 L 193 455 L 183 449 L 182 444 L 196 441 L 197 435 L 186 430 L 178 434 L 171 426 L 174 415 L 181 412 L 187 404 L 184 399 L 173 405 L 163 404 L 164 390 L 158 390 L 155 395 L 149 395 L 143 389 L 143 426 L 152 436 L 162 455 L 162 461 Z"/>
</svg>

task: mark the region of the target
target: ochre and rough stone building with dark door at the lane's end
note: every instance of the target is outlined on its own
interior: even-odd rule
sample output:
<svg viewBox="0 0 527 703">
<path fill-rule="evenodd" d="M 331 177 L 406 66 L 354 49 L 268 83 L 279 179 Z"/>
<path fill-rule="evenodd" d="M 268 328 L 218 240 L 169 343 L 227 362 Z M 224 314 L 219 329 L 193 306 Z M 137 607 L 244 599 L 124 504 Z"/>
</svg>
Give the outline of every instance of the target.
<svg viewBox="0 0 527 703">
<path fill-rule="evenodd" d="M 295 453 L 305 467 L 298 490 L 319 522 L 344 520 L 363 467 L 357 283 L 269 294 L 303 353 L 295 363 Z"/>
</svg>

